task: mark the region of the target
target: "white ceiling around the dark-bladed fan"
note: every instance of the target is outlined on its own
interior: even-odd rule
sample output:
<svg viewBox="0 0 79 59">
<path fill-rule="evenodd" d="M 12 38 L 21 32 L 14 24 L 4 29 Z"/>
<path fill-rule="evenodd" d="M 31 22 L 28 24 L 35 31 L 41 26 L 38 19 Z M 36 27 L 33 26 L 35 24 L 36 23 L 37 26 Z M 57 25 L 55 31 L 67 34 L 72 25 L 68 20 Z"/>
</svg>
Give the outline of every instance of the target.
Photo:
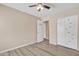
<svg viewBox="0 0 79 59">
<path fill-rule="evenodd" d="M 26 12 L 28 14 L 37 16 L 37 17 L 47 17 L 54 15 L 61 11 L 66 11 L 68 9 L 74 9 L 76 7 L 79 7 L 78 3 L 46 3 L 46 5 L 50 6 L 51 8 L 49 10 L 44 9 L 40 12 L 36 10 L 36 7 L 29 8 L 29 5 L 32 5 L 34 3 L 4 3 L 3 5 L 6 5 L 11 8 L 15 8 L 17 10 L 20 10 L 22 12 Z"/>
</svg>

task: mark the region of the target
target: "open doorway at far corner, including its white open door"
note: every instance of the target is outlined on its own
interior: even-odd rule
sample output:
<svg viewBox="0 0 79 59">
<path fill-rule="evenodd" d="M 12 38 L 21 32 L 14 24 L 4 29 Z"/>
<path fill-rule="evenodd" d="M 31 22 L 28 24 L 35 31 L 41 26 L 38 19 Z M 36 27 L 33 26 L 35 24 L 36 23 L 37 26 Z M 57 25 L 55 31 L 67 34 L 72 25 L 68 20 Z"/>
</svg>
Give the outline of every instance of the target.
<svg viewBox="0 0 79 59">
<path fill-rule="evenodd" d="M 49 42 L 49 21 L 37 21 L 37 42 Z"/>
</svg>

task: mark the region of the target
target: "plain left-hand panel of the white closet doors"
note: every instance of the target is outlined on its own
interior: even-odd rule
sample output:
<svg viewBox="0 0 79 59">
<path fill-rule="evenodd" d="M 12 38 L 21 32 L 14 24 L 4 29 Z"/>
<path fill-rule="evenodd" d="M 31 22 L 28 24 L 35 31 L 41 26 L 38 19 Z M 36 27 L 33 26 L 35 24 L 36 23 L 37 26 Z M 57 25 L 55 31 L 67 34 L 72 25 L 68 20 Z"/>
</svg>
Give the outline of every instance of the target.
<svg viewBox="0 0 79 59">
<path fill-rule="evenodd" d="M 57 44 L 64 45 L 64 19 L 58 19 L 57 21 Z"/>
</svg>

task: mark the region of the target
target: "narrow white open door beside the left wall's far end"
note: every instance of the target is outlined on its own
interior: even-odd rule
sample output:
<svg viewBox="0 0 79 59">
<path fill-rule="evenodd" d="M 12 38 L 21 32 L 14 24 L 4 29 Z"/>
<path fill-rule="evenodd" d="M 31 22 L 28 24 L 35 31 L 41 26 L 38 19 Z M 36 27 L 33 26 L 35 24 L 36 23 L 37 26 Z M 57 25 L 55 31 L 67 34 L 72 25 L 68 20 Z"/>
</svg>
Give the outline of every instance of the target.
<svg viewBox="0 0 79 59">
<path fill-rule="evenodd" d="M 37 42 L 41 42 L 44 39 L 44 27 L 43 27 L 43 22 L 38 20 L 37 21 Z"/>
</svg>

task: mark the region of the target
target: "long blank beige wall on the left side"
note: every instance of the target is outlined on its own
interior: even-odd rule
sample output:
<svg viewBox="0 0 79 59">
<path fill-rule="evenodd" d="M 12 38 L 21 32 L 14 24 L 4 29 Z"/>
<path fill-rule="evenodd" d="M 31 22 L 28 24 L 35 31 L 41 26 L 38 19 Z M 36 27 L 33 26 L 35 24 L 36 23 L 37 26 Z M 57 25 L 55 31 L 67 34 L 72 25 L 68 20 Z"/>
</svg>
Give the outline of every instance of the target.
<svg viewBox="0 0 79 59">
<path fill-rule="evenodd" d="M 0 51 L 35 43 L 37 19 L 0 5 Z"/>
</svg>

